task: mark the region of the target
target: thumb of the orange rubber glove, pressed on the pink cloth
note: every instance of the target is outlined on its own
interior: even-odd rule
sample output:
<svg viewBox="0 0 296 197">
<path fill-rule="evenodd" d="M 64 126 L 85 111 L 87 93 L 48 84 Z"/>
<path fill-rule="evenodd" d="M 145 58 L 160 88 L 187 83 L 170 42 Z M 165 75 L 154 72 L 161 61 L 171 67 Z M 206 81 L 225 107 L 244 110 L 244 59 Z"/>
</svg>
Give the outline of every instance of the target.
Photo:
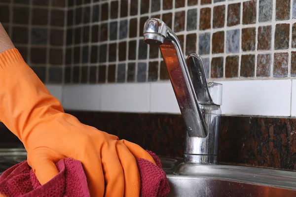
<svg viewBox="0 0 296 197">
<path fill-rule="evenodd" d="M 59 173 L 56 165 L 50 160 L 49 157 L 37 156 L 31 161 L 32 162 L 30 162 L 30 166 L 32 167 L 41 185 L 44 185 Z"/>
</svg>

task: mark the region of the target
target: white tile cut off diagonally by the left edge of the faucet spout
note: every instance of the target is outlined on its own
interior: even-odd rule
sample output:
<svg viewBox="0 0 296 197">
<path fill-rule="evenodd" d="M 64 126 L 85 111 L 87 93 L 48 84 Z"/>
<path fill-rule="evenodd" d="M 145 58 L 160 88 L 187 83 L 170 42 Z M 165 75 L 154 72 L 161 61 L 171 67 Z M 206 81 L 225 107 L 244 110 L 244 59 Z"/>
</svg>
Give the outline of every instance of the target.
<svg viewBox="0 0 296 197">
<path fill-rule="evenodd" d="M 171 82 L 151 83 L 150 112 L 181 114 Z"/>
</svg>

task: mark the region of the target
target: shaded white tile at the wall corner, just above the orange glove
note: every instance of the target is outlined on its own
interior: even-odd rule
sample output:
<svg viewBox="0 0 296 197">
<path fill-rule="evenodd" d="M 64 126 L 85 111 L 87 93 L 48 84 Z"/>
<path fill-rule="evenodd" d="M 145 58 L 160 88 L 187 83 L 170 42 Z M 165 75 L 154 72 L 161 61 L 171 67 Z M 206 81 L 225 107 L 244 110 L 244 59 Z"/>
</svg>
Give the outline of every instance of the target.
<svg viewBox="0 0 296 197">
<path fill-rule="evenodd" d="M 101 85 L 65 85 L 63 107 L 73 110 L 100 110 Z"/>
</svg>

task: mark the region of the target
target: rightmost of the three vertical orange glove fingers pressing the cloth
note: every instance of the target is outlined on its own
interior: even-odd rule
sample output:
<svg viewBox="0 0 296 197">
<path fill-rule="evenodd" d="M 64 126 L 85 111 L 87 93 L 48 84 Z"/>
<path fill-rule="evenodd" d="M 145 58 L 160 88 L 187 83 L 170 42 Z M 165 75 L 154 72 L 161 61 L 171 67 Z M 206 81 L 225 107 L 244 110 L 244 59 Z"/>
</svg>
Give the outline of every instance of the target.
<svg viewBox="0 0 296 197">
<path fill-rule="evenodd" d="M 139 197 L 141 180 L 136 159 L 119 141 L 116 144 L 116 151 L 124 173 L 124 197 Z"/>
</svg>

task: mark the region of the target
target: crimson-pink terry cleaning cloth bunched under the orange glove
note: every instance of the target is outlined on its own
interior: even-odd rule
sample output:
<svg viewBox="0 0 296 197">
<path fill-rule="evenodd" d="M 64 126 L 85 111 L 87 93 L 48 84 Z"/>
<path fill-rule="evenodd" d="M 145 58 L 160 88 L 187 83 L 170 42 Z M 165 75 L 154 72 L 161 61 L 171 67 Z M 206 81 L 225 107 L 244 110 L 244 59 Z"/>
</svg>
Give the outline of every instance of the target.
<svg viewBox="0 0 296 197">
<path fill-rule="evenodd" d="M 150 151 L 149 154 L 157 165 L 137 159 L 141 176 L 140 197 L 165 197 L 170 192 L 166 174 L 159 158 Z M 27 161 L 16 164 L 0 176 L 0 193 L 8 197 L 90 197 L 79 161 L 67 158 L 56 166 L 58 175 L 41 186 Z"/>
</svg>

